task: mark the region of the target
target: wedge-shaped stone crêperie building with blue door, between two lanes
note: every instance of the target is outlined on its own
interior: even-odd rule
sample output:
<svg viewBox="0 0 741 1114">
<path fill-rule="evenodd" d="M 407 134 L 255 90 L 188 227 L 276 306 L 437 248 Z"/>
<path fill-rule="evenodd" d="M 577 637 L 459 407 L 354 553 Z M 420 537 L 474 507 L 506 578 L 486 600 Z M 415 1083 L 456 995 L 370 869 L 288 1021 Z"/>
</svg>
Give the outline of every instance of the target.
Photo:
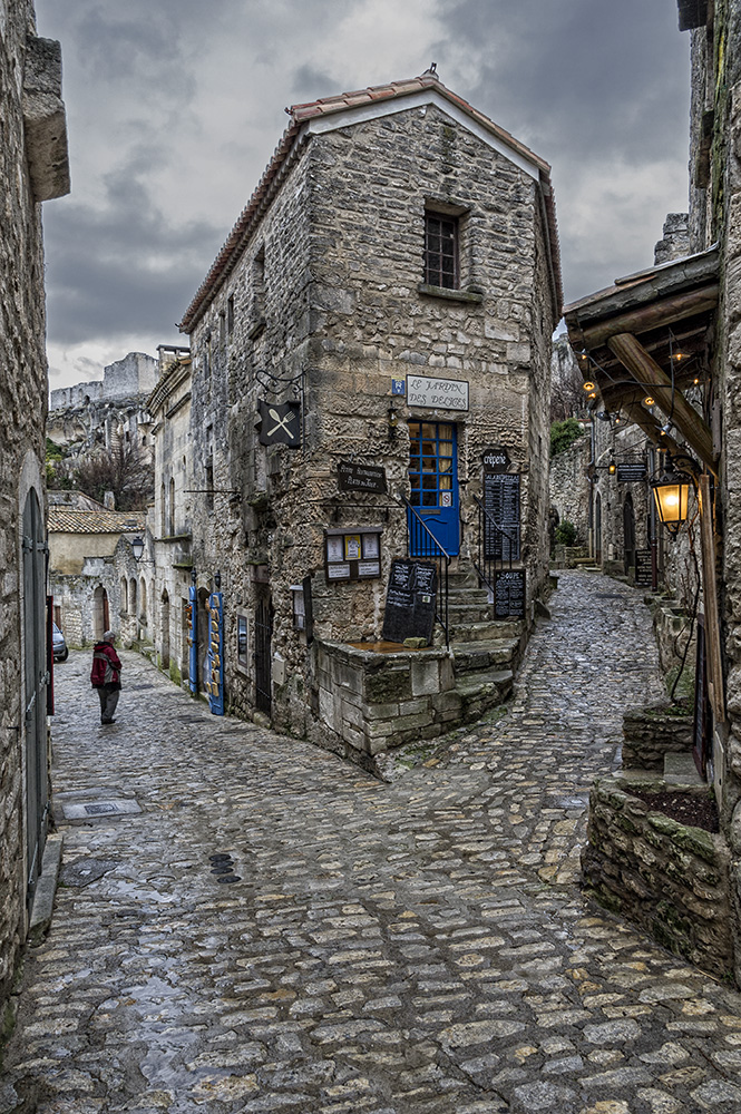
<svg viewBox="0 0 741 1114">
<path fill-rule="evenodd" d="M 361 761 L 480 711 L 547 578 L 560 297 L 548 165 L 432 70 L 291 109 L 181 325 L 233 711 Z M 408 553 L 437 568 L 438 645 L 378 654 Z"/>
</svg>

